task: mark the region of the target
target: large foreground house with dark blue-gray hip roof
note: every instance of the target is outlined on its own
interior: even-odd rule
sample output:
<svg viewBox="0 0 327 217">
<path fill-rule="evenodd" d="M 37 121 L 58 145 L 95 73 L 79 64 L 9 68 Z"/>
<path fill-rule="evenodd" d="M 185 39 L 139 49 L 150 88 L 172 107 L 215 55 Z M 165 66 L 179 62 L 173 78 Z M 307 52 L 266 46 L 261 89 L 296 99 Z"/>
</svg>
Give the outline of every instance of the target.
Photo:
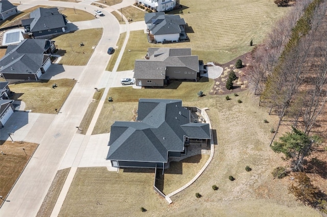
<svg viewBox="0 0 327 217">
<path fill-rule="evenodd" d="M 207 123 L 191 122 L 179 99 L 139 99 L 136 122 L 111 125 L 107 160 L 112 167 L 162 168 L 185 147 L 211 138 Z"/>
</svg>

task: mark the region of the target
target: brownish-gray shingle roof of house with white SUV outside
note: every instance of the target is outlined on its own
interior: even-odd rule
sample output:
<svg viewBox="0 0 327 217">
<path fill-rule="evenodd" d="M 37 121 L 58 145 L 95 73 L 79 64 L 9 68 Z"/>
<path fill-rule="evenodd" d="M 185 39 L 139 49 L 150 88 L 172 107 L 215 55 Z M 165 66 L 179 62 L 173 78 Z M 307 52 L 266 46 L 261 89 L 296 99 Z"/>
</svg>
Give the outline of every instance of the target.
<svg viewBox="0 0 327 217">
<path fill-rule="evenodd" d="M 188 67 L 199 72 L 199 58 L 191 55 L 191 48 L 149 48 L 148 57 L 135 61 L 135 78 L 165 79 L 167 67 Z"/>
</svg>

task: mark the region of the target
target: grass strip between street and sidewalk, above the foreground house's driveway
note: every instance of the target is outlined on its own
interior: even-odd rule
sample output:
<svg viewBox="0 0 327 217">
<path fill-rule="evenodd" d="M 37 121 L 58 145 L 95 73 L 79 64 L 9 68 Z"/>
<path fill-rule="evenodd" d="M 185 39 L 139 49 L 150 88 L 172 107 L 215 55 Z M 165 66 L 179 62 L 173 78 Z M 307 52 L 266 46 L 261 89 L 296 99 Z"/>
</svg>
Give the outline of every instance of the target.
<svg viewBox="0 0 327 217">
<path fill-rule="evenodd" d="M 84 114 L 84 117 L 82 119 L 81 124 L 79 125 L 80 129 L 79 133 L 85 134 L 87 132 L 88 126 L 90 125 L 92 118 L 97 110 L 98 104 L 100 102 L 100 99 L 103 95 L 103 89 L 98 89 L 98 91 L 95 91 L 93 95 L 92 102 L 88 105 L 86 113 Z"/>
</svg>

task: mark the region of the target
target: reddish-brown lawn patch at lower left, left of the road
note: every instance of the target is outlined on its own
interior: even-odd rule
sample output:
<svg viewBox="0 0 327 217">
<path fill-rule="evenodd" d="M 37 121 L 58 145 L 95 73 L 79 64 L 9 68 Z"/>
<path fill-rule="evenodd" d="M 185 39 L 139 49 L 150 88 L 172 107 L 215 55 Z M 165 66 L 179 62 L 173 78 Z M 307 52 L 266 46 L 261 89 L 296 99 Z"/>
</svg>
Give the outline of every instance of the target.
<svg viewBox="0 0 327 217">
<path fill-rule="evenodd" d="M 0 141 L 0 195 L 5 199 L 16 179 L 25 168 L 38 144 L 28 142 Z M 24 152 L 24 149 L 25 152 Z M 2 204 L 4 200 L 0 200 Z"/>
</svg>

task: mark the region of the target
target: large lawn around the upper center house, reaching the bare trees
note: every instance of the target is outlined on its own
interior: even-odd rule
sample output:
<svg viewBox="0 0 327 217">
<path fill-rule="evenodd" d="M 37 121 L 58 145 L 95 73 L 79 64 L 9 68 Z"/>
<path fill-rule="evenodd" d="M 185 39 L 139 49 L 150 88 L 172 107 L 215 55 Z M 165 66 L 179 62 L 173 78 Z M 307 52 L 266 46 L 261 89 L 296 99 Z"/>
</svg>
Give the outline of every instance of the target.
<svg viewBox="0 0 327 217">
<path fill-rule="evenodd" d="M 290 8 L 277 7 L 273 1 L 232 0 L 217 2 L 181 0 L 185 6 L 179 14 L 188 24 L 190 42 L 150 44 L 143 31 L 131 32 L 119 71 L 134 68 L 134 61 L 143 58 L 148 47 L 190 47 L 193 55 L 204 62 L 229 62 L 250 51 L 253 44 L 263 41 L 273 23 Z M 208 5 L 210 7 L 208 7 Z M 179 10 L 171 13 L 178 13 Z"/>
</svg>

